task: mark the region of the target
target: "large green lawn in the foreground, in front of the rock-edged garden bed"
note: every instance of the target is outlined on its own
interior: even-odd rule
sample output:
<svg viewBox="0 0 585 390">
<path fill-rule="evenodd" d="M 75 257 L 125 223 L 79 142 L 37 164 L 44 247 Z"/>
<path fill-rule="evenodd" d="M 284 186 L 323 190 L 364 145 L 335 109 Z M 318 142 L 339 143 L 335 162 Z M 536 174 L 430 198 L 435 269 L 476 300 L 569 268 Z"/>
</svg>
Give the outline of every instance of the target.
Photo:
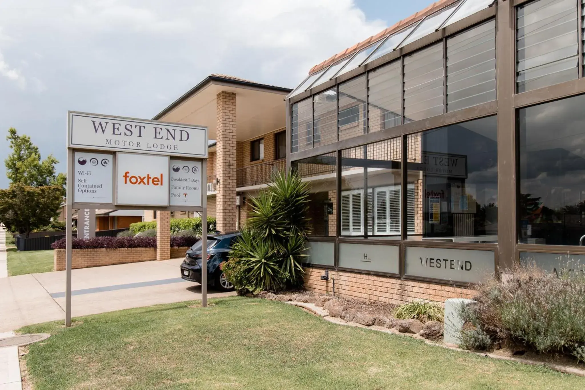
<svg viewBox="0 0 585 390">
<path fill-rule="evenodd" d="M 585 378 L 221 298 L 27 326 L 35 389 L 583 389 Z M 190 307 L 191 306 L 191 307 Z"/>
</svg>

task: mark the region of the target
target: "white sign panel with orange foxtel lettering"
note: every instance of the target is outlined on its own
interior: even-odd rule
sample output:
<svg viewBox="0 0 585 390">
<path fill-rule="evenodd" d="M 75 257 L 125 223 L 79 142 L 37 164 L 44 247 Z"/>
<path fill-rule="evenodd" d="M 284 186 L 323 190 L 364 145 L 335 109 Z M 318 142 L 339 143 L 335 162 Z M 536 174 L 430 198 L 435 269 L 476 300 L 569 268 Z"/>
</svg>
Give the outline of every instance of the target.
<svg viewBox="0 0 585 390">
<path fill-rule="evenodd" d="M 118 153 L 116 204 L 168 206 L 168 156 Z"/>
</svg>

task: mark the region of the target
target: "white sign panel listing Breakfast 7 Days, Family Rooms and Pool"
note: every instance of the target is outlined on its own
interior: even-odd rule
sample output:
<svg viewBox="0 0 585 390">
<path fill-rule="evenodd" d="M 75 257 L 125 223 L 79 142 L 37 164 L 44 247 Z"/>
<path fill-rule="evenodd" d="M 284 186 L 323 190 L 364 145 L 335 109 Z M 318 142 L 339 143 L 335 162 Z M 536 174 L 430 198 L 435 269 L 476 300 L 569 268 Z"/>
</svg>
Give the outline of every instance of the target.
<svg viewBox="0 0 585 390">
<path fill-rule="evenodd" d="M 201 161 L 171 160 L 171 206 L 201 206 Z"/>
</svg>

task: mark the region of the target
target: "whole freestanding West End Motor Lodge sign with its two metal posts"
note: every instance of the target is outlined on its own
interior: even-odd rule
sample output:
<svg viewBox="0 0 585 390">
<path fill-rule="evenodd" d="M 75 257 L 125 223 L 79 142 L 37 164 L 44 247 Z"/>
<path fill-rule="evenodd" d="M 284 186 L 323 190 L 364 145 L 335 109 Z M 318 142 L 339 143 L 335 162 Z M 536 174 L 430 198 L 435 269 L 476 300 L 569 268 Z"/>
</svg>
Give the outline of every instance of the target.
<svg viewBox="0 0 585 390">
<path fill-rule="evenodd" d="M 67 113 L 66 326 L 71 326 L 71 215 L 78 232 L 95 233 L 95 209 L 199 212 L 207 258 L 208 130 L 205 126 Z M 92 212 L 93 211 L 93 215 Z M 207 262 L 201 264 L 201 305 L 207 306 Z"/>
</svg>

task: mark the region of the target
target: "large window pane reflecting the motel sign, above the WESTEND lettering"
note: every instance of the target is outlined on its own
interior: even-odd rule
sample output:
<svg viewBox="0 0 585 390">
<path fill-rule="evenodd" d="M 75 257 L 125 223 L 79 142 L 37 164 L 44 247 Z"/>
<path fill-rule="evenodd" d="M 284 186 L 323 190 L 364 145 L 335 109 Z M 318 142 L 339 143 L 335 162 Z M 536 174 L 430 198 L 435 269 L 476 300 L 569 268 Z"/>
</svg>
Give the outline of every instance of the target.
<svg viewBox="0 0 585 390">
<path fill-rule="evenodd" d="M 414 232 L 408 238 L 496 242 L 497 150 L 495 116 L 410 134 Z"/>
</svg>

